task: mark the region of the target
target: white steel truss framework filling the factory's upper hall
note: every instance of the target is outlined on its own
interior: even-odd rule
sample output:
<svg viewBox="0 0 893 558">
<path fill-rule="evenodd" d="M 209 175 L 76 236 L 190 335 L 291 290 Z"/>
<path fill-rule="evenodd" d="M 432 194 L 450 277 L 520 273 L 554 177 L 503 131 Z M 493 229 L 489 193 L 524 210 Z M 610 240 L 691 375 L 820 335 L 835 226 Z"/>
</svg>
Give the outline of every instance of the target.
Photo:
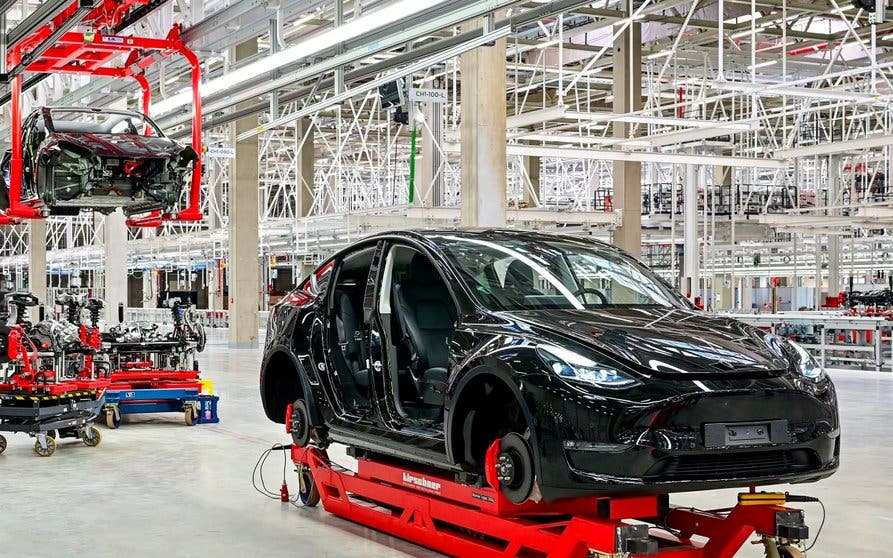
<svg viewBox="0 0 893 558">
<path fill-rule="evenodd" d="M 10 26 L 40 4 L 11 5 Z M 480 17 L 483 29 L 470 23 Z M 854 274 L 891 251 L 893 21 L 876 19 L 839 0 L 644 0 L 631 10 L 618 1 L 176 0 L 122 34 L 183 24 L 204 64 L 206 145 L 232 145 L 229 124 L 257 118 L 240 139 L 259 138 L 260 255 L 278 254 L 280 265 L 318 261 L 383 228 L 458 223 L 459 55 L 507 36 L 510 223 L 610 239 L 612 163 L 639 161 L 643 241 L 663 247 L 646 259 L 675 276 L 681 184 L 687 165 L 699 165 L 702 273 L 763 277 L 814 273 L 829 239 L 850 247 L 840 266 Z M 643 108 L 617 113 L 614 38 L 630 25 L 641 26 Z M 255 38 L 257 56 L 235 64 L 234 47 Z M 188 137 L 188 68 L 164 61 L 147 77 L 152 116 Z M 436 137 L 436 168 L 416 185 L 421 205 L 408 202 L 409 127 L 378 94 L 401 78 L 447 93 L 412 111 L 420 133 Z M 123 98 L 136 107 L 137 94 L 132 83 L 71 76 L 28 92 L 32 106 Z M 617 123 L 629 125 L 626 137 L 615 137 Z M 298 180 L 308 131 L 314 176 Z M 131 233 L 134 268 L 226 258 L 228 167 L 208 162 L 205 222 Z M 313 203 L 301 215 L 305 192 Z M 93 216 L 50 221 L 51 265 L 101 266 Z M 0 268 L 24 266 L 25 227 L 0 236 Z M 765 264 L 748 263 L 756 254 Z"/>
</svg>

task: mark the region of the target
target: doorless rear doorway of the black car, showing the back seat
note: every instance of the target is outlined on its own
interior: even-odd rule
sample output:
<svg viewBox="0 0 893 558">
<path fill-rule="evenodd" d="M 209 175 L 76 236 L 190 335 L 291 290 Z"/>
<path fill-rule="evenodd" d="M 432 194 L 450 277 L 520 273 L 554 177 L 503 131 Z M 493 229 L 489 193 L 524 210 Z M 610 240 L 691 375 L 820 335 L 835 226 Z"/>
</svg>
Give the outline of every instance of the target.
<svg viewBox="0 0 893 558">
<path fill-rule="evenodd" d="M 344 404 L 349 410 L 367 408 L 369 368 L 363 332 L 363 296 L 372 265 L 374 247 L 347 256 L 338 269 L 332 291 L 330 312 L 333 320 L 329 346 L 341 384 Z"/>
</svg>

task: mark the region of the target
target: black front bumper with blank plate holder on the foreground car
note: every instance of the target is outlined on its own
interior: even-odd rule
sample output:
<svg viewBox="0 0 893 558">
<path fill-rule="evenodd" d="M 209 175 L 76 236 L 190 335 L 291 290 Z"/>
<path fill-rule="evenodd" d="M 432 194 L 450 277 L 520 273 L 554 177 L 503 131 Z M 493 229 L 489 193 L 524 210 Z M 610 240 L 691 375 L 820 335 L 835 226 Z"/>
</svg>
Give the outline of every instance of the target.
<svg viewBox="0 0 893 558">
<path fill-rule="evenodd" d="M 543 381 L 547 385 L 529 387 L 535 393 L 530 400 L 538 401 L 541 489 L 547 499 L 811 482 L 839 465 L 830 382 L 821 393 L 810 393 L 790 379 L 752 381 L 746 388 L 740 382 L 736 388 L 729 381 L 678 381 L 658 386 L 652 395 L 643 385 L 622 399 Z M 654 397 L 668 390 L 674 393 Z M 759 441 L 715 436 L 752 425 L 774 432 Z"/>
</svg>

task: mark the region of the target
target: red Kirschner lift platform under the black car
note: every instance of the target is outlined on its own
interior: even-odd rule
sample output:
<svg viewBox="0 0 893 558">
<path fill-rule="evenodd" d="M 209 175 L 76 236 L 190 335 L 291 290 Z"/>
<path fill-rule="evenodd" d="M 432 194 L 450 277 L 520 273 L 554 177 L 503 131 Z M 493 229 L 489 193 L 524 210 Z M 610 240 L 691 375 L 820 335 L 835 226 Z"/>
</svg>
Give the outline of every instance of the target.
<svg viewBox="0 0 893 558">
<path fill-rule="evenodd" d="M 308 506 L 320 500 L 344 519 L 450 556 L 475 558 L 732 558 L 754 534 L 767 556 L 801 558 L 803 512 L 780 493 L 744 493 L 733 508 L 669 505 L 667 495 L 508 501 L 498 486 L 498 443 L 487 453 L 487 483 L 475 487 L 358 456 L 357 471 L 324 449 L 291 447 Z"/>
</svg>

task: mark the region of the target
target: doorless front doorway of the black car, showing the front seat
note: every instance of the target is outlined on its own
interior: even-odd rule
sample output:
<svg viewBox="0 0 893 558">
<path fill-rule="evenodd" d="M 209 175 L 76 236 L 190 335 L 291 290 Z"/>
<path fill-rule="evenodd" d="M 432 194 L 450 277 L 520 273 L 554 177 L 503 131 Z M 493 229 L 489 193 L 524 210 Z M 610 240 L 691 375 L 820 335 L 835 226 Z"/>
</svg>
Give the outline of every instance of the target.
<svg viewBox="0 0 893 558">
<path fill-rule="evenodd" d="M 380 310 L 391 330 L 386 337 L 396 402 L 406 418 L 440 422 L 456 327 L 452 295 L 434 263 L 408 246 L 391 249 L 385 274 L 381 298 L 389 304 Z"/>
</svg>

